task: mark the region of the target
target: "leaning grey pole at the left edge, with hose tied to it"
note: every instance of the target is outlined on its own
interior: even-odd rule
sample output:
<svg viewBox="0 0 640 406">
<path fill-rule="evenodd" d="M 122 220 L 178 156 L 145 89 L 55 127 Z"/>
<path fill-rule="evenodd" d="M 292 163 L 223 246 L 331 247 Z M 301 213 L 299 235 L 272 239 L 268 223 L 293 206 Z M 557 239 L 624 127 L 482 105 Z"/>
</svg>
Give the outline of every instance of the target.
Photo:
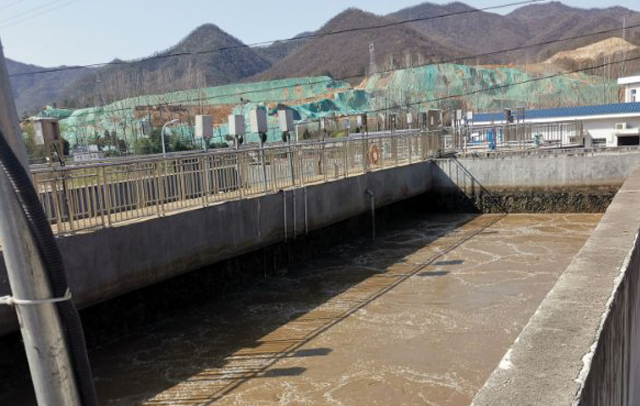
<svg viewBox="0 0 640 406">
<path fill-rule="evenodd" d="M 10 86 L 0 41 L 0 130 L 28 171 L 29 163 Z M 80 406 L 67 340 L 54 303 L 56 298 L 52 297 L 49 277 L 26 217 L 2 171 L 0 243 L 38 404 Z"/>
</svg>

